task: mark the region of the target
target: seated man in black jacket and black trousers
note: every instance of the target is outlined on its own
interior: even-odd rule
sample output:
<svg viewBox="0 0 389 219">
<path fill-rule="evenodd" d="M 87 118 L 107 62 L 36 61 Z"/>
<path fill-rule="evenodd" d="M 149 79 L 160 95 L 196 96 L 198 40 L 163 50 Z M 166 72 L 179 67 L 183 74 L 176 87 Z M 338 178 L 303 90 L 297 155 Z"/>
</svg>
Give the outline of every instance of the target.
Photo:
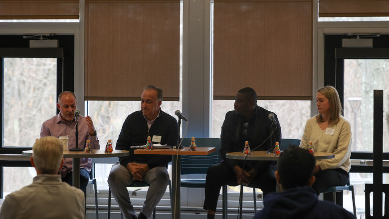
<svg viewBox="0 0 389 219">
<path fill-rule="evenodd" d="M 269 119 L 274 115 L 275 122 Z M 267 151 L 275 142 L 281 143 L 281 127 L 277 116 L 257 106 L 257 94 L 250 87 L 242 88 L 235 96 L 234 111 L 225 115 L 221 127 L 220 154 L 224 159 L 206 174 L 204 209 L 208 219 L 213 219 L 217 199 L 223 185 L 237 186 L 240 184 L 260 188 L 263 195 L 276 191 L 274 176 L 275 165 L 271 161 L 243 161 L 226 159 L 229 152 L 243 152 L 244 143 L 248 141 L 251 150 Z"/>
</svg>

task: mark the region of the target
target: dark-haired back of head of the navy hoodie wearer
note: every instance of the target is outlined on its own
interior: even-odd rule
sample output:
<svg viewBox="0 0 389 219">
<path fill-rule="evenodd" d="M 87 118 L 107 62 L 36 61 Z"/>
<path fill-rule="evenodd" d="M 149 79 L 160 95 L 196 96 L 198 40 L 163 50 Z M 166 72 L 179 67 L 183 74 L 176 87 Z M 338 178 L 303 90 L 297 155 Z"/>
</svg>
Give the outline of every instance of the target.
<svg viewBox="0 0 389 219">
<path fill-rule="evenodd" d="M 283 151 L 277 164 L 284 190 L 307 186 L 315 169 L 315 158 L 308 150 L 294 147 Z"/>
</svg>

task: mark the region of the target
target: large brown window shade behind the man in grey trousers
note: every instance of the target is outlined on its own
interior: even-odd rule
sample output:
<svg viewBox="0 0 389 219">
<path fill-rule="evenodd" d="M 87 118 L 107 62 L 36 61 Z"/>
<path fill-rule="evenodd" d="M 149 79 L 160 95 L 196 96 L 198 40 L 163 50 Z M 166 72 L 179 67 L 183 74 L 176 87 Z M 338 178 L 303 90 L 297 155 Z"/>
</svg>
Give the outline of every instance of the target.
<svg viewBox="0 0 389 219">
<path fill-rule="evenodd" d="M 85 0 L 85 100 L 180 97 L 180 1 Z"/>
</svg>

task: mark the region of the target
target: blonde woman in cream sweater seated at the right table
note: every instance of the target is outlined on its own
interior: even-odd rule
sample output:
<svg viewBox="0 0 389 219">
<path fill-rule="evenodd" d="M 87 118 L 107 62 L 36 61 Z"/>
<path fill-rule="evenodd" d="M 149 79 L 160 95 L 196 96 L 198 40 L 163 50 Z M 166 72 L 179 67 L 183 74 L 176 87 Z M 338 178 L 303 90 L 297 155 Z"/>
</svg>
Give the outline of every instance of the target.
<svg viewBox="0 0 389 219">
<path fill-rule="evenodd" d="M 330 186 L 344 186 L 349 180 L 352 133 L 350 122 L 341 115 L 342 105 L 338 91 L 332 86 L 316 91 L 319 114 L 310 118 L 304 129 L 300 147 L 335 154 L 335 158 L 317 160 L 316 181 L 312 188 L 319 195 Z"/>
</svg>

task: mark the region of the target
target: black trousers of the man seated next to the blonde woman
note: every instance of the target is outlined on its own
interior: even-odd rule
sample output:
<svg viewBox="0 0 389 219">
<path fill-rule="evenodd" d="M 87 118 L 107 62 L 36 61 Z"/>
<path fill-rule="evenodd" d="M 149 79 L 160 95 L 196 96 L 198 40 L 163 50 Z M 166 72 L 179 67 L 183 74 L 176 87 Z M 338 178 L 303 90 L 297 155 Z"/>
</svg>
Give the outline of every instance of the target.
<svg viewBox="0 0 389 219">
<path fill-rule="evenodd" d="M 269 192 L 276 191 L 275 166 L 269 166 L 265 171 L 258 173 L 257 177 L 250 183 L 250 186 L 259 188 L 263 197 Z M 222 186 L 238 186 L 236 176 L 225 163 L 219 163 L 208 168 L 205 180 L 205 210 L 216 211 L 217 199 Z"/>
</svg>

